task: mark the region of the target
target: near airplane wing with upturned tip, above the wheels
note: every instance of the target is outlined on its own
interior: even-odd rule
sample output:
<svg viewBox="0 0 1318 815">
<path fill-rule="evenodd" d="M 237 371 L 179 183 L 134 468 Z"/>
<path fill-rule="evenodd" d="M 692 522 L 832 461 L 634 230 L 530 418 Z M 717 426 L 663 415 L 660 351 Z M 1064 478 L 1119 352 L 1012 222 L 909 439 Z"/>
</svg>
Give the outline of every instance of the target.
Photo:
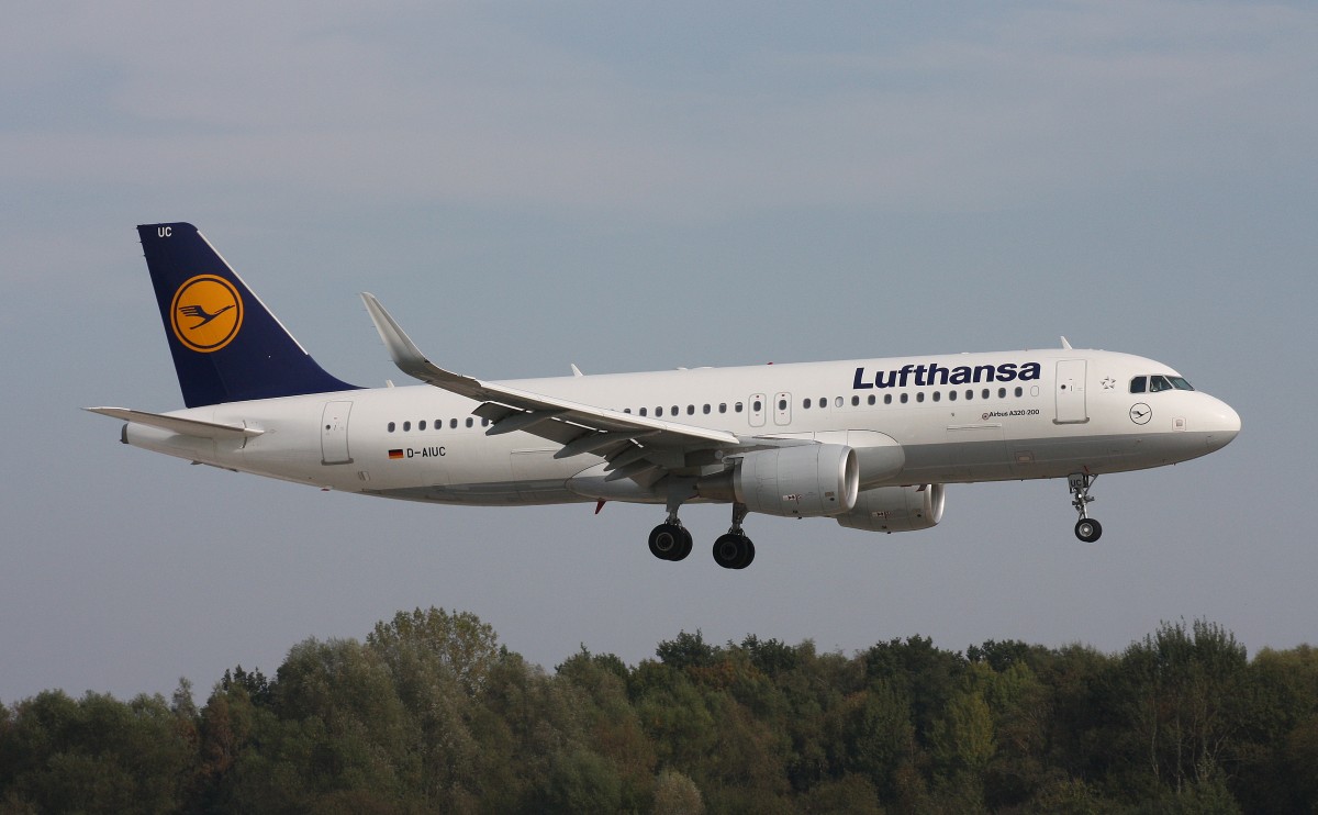
<svg viewBox="0 0 1318 815">
<path fill-rule="evenodd" d="M 743 446 L 737 434 L 726 430 L 608 410 L 445 371 L 426 359 L 374 295 L 364 291 L 361 299 L 399 371 L 482 402 L 473 413 L 493 422 L 486 431 L 489 435 L 521 430 L 561 444 L 555 458 L 584 452 L 601 455 L 612 462 L 610 477 L 633 477 L 655 469 L 658 464 L 654 458 L 642 450 L 685 451 Z M 638 439 L 643 439 L 643 447 L 637 446 Z"/>
</svg>

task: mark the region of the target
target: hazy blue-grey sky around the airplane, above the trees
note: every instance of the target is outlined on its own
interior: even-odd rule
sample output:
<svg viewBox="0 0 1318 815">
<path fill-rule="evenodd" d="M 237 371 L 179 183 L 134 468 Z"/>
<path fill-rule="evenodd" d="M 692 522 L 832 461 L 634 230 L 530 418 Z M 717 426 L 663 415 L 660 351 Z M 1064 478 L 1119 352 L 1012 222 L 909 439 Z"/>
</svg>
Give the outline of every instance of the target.
<svg viewBox="0 0 1318 815">
<path fill-rule="evenodd" d="M 401 609 L 534 663 L 754 633 L 1115 653 L 1207 619 L 1318 642 L 1318 9 L 1304 3 L 7 8 L 0 702 L 128 698 Z M 1157 359 L 1240 437 L 953 485 L 898 535 L 663 509 L 452 508 L 124 447 L 182 406 L 136 224 L 195 223 L 316 360 L 399 384 L 358 291 L 482 378 L 1057 347 Z"/>
</svg>

